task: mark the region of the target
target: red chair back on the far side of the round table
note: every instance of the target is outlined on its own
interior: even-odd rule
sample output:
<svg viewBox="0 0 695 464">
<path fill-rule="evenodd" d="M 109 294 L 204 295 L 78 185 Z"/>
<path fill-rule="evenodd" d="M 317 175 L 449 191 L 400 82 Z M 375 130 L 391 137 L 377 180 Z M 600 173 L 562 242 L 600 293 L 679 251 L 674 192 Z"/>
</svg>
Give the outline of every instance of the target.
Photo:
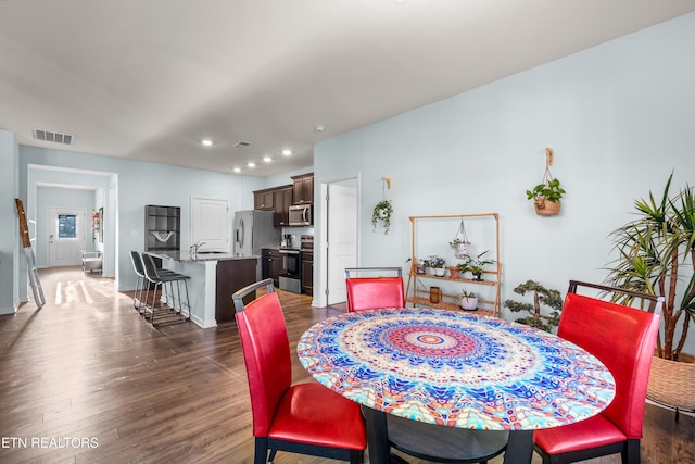
<svg viewBox="0 0 695 464">
<path fill-rule="evenodd" d="M 357 277 L 367 274 L 368 276 Z M 375 276 L 374 274 L 379 274 Z M 395 274 L 387 275 L 383 274 Z M 401 267 L 349 267 L 345 268 L 348 311 L 403 308 L 403 271 Z"/>
</svg>

